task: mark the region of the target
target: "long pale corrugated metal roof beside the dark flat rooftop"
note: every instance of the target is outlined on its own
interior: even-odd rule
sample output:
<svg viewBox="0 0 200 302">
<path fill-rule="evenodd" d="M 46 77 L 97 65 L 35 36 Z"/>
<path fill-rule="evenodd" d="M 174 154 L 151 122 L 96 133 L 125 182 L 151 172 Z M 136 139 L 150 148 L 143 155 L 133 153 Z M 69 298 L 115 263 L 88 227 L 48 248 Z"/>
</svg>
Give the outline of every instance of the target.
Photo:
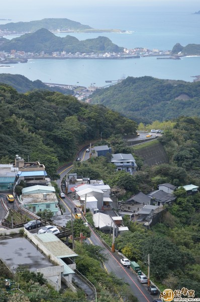
<svg viewBox="0 0 200 302">
<path fill-rule="evenodd" d="M 54 234 L 44 233 L 34 235 L 42 245 L 57 258 L 70 258 L 78 256 L 74 251 L 68 248 Z"/>
</svg>

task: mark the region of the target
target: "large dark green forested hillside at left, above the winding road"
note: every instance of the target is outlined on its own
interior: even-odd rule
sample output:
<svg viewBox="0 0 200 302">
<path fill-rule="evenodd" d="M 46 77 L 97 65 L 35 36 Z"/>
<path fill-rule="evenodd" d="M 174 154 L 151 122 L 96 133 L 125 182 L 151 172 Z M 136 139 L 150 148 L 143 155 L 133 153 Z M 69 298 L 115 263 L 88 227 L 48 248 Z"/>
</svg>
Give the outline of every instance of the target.
<svg viewBox="0 0 200 302">
<path fill-rule="evenodd" d="M 136 133 L 136 123 L 99 106 L 53 92 L 19 94 L 0 84 L 0 162 L 39 160 L 54 177 L 59 162 L 75 158 L 78 146 L 112 134 Z"/>
</svg>

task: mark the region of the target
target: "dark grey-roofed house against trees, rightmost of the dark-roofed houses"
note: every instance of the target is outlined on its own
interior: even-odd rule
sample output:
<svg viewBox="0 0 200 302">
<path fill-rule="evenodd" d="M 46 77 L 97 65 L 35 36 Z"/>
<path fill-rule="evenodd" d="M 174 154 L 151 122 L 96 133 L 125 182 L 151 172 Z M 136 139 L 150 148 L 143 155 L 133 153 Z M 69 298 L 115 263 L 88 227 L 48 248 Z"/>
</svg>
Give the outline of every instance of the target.
<svg viewBox="0 0 200 302">
<path fill-rule="evenodd" d="M 156 190 L 148 195 L 151 198 L 152 205 L 165 205 L 172 203 L 176 197 L 173 194 L 166 193 L 162 190 Z"/>
</svg>

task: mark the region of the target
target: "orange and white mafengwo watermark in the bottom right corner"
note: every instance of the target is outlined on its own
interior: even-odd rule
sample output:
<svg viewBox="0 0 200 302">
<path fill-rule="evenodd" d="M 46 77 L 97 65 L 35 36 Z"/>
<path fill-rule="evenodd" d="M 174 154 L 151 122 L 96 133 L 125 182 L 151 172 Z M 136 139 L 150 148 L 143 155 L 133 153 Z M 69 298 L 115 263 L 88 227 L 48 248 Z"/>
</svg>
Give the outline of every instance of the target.
<svg viewBox="0 0 200 302">
<path fill-rule="evenodd" d="M 187 289 L 182 287 L 181 289 L 165 289 L 160 293 L 160 298 L 165 302 L 171 302 L 172 300 L 175 302 L 198 302 L 200 298 L 194 297 L 195 291 L 192 289 Z M 184 297 L 183 297 L 184 296 Z"/>
</svg>

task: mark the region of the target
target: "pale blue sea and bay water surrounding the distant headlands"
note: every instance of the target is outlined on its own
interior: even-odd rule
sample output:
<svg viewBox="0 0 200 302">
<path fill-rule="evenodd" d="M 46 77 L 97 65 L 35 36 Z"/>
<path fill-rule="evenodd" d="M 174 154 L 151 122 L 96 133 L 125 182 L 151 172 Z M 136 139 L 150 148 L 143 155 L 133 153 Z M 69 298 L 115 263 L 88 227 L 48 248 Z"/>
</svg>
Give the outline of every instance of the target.
<svg viewBox="0 0 200 302">
<path fill-rule="evenodd" d="M 200 9 L 197 2 L 190 6 L 171 2 L 161 6 L 107 6 L 96 9 L 82 7 L 74 12 L 70 7 L 65 18 L 87 24 L 97 29 L 122 29 L 127 33 L 70 33 L 78 40 L 108 37 L 113 43 L 125 48 L 144 47 L 148 49 L 171 50 L 176 43 L 182 46 L 200 44 Z M 56 17 L 63 15 L 56 8 Z M 45 16 L 47 18 L 47 16 Z M 42 18 L 41 18 L 42 19 Z M 40 20 L 33 17 L 31 20 Z M 12 22 L 23 20 L 12 20 Z M 1 21 L 0 21 L 1 22 Z M 1 22 L 3 24 L 3 22 Z M 5 23 L 5 21 L 4 21 Z M 66 33 L 56 34 L 65 37 Z M 8 39 L 17 36 L 5 36 Z M 3 64 L 3 63 L 2 63 Z M 185 56 L 180 60 L 140 57 L 133 59 L 31 59 L 27 63 L 9 64 L 0 68 L 1 73 L 22 74 L 31 81 L 78 86 L 106 87 L 112 81 L 117 83 L 127 77 L 149 75 L 158 79 L 192 82 L 200 75 L 200 57 Z"/>
</svg>

